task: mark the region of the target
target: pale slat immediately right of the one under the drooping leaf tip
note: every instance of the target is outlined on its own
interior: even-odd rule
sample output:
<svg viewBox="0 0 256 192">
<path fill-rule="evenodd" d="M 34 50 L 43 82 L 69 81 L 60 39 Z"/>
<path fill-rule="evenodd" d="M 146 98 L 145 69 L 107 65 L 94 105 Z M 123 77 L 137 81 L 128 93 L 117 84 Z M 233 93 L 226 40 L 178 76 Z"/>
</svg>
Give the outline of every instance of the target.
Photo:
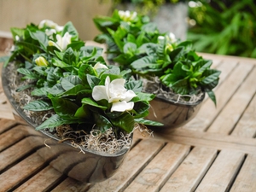
<svg viewBox="0 0 256 192">
<path fill-rule="evenodd" d="M 208 132 L 230 134 L 256 92 L 255 77 L 256 67 L 253 68 L 252 73 L 249 74 L 241 87 L 232 96 L 227 107 L 218 114 L 217 119 L 214 120 L 213 124 L 207 130 Z M 256 113 L 253 116 L 256 117 Z"/>
</svg>

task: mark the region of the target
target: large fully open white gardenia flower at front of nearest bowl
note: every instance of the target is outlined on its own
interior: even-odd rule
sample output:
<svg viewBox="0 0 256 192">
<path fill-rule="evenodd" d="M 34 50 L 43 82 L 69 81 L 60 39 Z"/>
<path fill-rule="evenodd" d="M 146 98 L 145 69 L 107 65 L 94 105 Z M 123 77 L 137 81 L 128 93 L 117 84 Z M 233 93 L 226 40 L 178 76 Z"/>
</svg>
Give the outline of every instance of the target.
<svg viewBox="0 0 256 192">
<path fill-rule="evenodd" d="M 132 90 L 125 89 L 125 79 L 114 79 L 110 82 L 107 77 L 104 85 L 96 85 L 92 90 L 92 98 L 95 101 L 106 99 L 112 103 L 111 112 L 130 111 L 134 102 L 130 102 L 133 97 L 137 96 Z"/>
</svg>

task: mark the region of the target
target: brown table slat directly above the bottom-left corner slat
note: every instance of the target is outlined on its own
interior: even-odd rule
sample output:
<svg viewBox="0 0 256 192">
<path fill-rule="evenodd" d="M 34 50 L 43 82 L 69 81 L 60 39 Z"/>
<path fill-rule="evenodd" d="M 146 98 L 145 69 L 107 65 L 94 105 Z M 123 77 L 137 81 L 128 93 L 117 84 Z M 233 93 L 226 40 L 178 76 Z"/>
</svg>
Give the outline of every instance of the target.
<svg viewBox="0 0 256 192">
<path fill-rule="evenodd" d="M 8 148 L 8 150 L 4 150 L 0 155 L 0 172 L 7 168 L 8 166 L 14 164 L 20 158 L 30 154 L 34 148 L 38 148 L 39 146 L 33 145 L 30 142 L 31 137 L 26 137 L 22 139 L 20 142 L 15 143 L 15 145 Z M 44 145 L 44 143 L 42 143 Z"/>
</svg>

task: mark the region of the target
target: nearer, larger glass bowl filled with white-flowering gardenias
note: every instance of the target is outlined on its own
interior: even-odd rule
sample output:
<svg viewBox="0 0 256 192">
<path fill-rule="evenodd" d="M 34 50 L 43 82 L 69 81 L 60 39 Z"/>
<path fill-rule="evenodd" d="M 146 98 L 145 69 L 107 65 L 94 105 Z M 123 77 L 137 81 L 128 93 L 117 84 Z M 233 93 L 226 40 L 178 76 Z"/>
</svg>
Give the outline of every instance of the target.
<svg viewBox="0 0 256 192">
<path fill-rule="evenodd" d="M 131 70 L 107 66 L 102 49 L 84 44 L 71 22 L 43 20 L 11 32 L 15 45 L 1 59 L 3 89 L 21 118 L 46 136 L 32 143 L 45 142 L 50 149 L 38 154 L 54 157 L 60 172 L 102 181 L 124 160 L 135 127 L 161 125 L 144 119 L 154 94 L 141 91 Z"/>
</svg>

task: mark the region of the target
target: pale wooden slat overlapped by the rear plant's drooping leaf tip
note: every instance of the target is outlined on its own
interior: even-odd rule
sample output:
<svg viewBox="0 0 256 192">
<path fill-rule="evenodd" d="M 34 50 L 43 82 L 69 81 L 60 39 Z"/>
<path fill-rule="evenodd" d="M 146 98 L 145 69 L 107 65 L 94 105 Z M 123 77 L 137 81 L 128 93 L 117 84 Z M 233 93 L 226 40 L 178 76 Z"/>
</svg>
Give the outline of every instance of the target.
<svg viewBox="0 0 256 192">
<path fill-rule="evenodd" d="M 230 63 L 226 63 L 229 65 Z M 217 117 L 218 113 L 224 108 L 230 97 L 236 92 L 236 89 L 242 84 L 242 81 L 247 77 L 247 74 L 252 70 L 253 65 L 244 63 L 236 67 L 233 73 L 230 74 L 224 84 L 220 84 L 218 90 L 215 91 L 217 98 L 217 107 L 215 108 L 211 100 L 207 100 L 201 106 L 200 111 L 196 114 L 195 119 L 192 119 L 188 124 L 183 126 L 183 129 L 194 131 L 205 131 L 212 121 Z"/>
</svg>

